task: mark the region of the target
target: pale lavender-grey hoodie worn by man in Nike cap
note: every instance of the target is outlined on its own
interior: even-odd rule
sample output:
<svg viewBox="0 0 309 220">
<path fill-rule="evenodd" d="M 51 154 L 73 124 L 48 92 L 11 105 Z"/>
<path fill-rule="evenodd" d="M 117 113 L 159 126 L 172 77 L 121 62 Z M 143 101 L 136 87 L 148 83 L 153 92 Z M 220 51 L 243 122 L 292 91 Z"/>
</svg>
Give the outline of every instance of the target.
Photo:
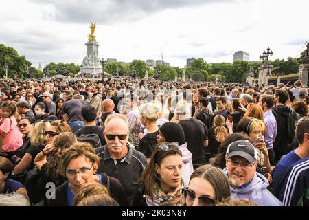
<svg viewBox="0 0 309 220">
<path fill-rule="evenodd" d="M 228 176 L 227 168 L 223 170 Z M 283 206 L 271 192 L 268 191 L 268 180 L 260 173 L 255 173 L 252 181 L 245 186 L 235 190 L 231 187 L 231 200 L 250 199 L 258 206 Z"/>
</svg>

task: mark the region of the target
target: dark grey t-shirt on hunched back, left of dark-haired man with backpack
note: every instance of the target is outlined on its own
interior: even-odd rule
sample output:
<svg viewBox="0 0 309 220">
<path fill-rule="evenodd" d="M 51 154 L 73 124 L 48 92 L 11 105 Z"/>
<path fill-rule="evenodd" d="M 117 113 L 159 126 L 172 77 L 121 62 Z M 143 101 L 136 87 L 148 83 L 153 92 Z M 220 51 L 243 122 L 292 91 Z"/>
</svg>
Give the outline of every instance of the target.
<svg viewBox="0 0 309 220">
<path fill-rule="evenodd" d="M 89 103 L 84 100 L 71 99 L 63 105 L 63 113 L 69 115 L 68 122 L 82 121 L 82 107 L 87 106 Z"/>
</svg>

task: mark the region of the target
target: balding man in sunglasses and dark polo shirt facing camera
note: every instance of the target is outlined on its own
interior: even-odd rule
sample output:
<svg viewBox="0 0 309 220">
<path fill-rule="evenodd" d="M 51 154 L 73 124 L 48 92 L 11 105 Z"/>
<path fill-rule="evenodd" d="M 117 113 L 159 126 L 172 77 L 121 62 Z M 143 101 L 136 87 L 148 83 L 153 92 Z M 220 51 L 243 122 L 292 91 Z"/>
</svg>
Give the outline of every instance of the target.
<svg viewBox="0 0 309 220">
<path fill-rule="evenodd" d="M 133 184 L 139 179 L 147 160 L 142 153 L 128 144 L 129 134 L 126 116 L 117 113 L 109 115 L 104 130 L 107 144 L 98 155 L 101 157 L 99 173 L 104 172 L 118 179 L 130 204 L 135 189 Z"/>
</svg>

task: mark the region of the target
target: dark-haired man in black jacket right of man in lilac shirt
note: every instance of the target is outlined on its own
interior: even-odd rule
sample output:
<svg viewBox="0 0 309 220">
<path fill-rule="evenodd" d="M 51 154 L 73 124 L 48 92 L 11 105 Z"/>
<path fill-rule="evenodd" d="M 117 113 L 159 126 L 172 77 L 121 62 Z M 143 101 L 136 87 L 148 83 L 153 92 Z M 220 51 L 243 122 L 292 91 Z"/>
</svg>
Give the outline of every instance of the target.
<svg viewBox="0 0 309 220">
<path fill-rule="evenodd" d="M 288 100 L 288 92 L 284 89 L 275 91 L 276 106 L 273 108 L 273 115 L 277 121 L 277 137 L 273 143 L 275 151 L 275 162 L 282 155 L 286 155 L 288 144 L 293 142 L 295 135 L 296 113 L 293 109 L 286 106 Z"/>
</svg>

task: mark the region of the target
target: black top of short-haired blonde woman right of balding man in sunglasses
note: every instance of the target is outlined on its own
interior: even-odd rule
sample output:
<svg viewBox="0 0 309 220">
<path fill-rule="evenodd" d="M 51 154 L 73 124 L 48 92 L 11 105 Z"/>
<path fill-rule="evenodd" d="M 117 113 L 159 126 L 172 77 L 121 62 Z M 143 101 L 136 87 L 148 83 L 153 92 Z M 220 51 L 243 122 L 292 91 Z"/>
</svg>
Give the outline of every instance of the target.
<svg viewBox="0 0 309 220">
<path fill-rule="evenodd" d="M 155 146 L 157 144 L 158 135 L 159 135 L 159 130 L 156 131 L 155 133 L 146 134 L 139 142 L 137 151 L 144 153 L 146 158 L 150 158 L 150 156 L 152 155 L 152 151 L 155 149 Z"/>
</svg>

